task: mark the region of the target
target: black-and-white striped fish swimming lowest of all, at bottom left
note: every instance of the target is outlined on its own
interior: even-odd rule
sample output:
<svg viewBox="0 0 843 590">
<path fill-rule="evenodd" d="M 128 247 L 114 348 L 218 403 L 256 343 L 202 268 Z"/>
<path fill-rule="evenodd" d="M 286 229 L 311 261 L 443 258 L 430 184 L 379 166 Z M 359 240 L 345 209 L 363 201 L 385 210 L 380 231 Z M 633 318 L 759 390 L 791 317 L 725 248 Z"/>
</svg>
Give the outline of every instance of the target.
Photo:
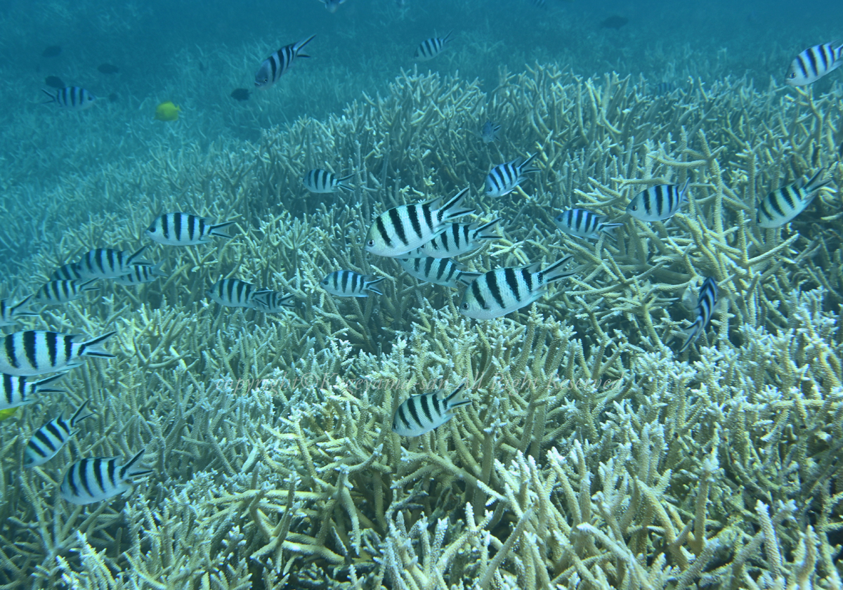
<svg viewBox="0 0 843 590">
<path fill-rule="evenodd" d="M 60 488 L 62 498 L 71 504 L 83 506 L 118 496 L 131 489 L 131 477 L 153 473 L 137 463 L 143 459 L 141 451 L 125 465 L 120 457 L 93 457 L 81 459 L 70 466 Z"/>
</svg>

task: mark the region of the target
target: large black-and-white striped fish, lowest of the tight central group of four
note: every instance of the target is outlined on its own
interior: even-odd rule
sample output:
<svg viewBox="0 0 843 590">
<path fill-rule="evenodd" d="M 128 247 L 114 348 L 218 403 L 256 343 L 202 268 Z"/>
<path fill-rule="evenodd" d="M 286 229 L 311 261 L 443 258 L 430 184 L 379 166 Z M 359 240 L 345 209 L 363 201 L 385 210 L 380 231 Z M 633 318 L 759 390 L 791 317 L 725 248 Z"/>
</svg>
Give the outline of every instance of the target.
<svg viewBox="0 0 843 590">
<path fill-rule="evenodd" d="M 459 313 L 475 319 L 492 319 L 523 308 L 540 299 L 551 283 L 574 274 L 561 270 L 571 258 L 567 255 L 544 270 L 534 264 L 486 272 L 465 289 Z"/>
</svg>

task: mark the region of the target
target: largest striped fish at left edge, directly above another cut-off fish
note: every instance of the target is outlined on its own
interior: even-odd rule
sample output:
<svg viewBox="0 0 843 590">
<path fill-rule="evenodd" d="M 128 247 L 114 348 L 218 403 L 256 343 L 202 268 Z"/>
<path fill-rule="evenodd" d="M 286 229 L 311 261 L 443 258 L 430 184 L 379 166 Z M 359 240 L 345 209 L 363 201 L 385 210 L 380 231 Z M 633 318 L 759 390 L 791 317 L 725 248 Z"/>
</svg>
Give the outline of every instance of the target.
<svg viewBox="0 0 843 590">
<path fill-rule="evenodd" d="M 14 332 L 0 340 L 0 373 L 41 375 L 55 373 L 84 362 L 83 357 L 114 358 L 100 345 L 116 332 L 77 342 L 78 335 L 43 330 Z"/>
</svg>

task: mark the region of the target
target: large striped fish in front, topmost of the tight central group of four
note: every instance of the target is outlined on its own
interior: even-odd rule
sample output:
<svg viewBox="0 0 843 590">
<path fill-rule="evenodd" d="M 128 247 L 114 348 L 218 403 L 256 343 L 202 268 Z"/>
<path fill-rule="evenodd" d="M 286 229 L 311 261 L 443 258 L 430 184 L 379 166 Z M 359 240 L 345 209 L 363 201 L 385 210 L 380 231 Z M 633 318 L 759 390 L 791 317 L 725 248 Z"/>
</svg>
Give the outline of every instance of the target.
<svg viewBox="0 0 843 590">
<path fill-rule="evenodd" d="M 375 217 L 366 234 L 366 251 L 374 255 L 403 257 L 448 229 L 445 223 L 473 213 L 459 209 L 469 190 L 460 190 L 448 202 L 443 197 L 414 205 L 401 205 Z"/>
</svg>

